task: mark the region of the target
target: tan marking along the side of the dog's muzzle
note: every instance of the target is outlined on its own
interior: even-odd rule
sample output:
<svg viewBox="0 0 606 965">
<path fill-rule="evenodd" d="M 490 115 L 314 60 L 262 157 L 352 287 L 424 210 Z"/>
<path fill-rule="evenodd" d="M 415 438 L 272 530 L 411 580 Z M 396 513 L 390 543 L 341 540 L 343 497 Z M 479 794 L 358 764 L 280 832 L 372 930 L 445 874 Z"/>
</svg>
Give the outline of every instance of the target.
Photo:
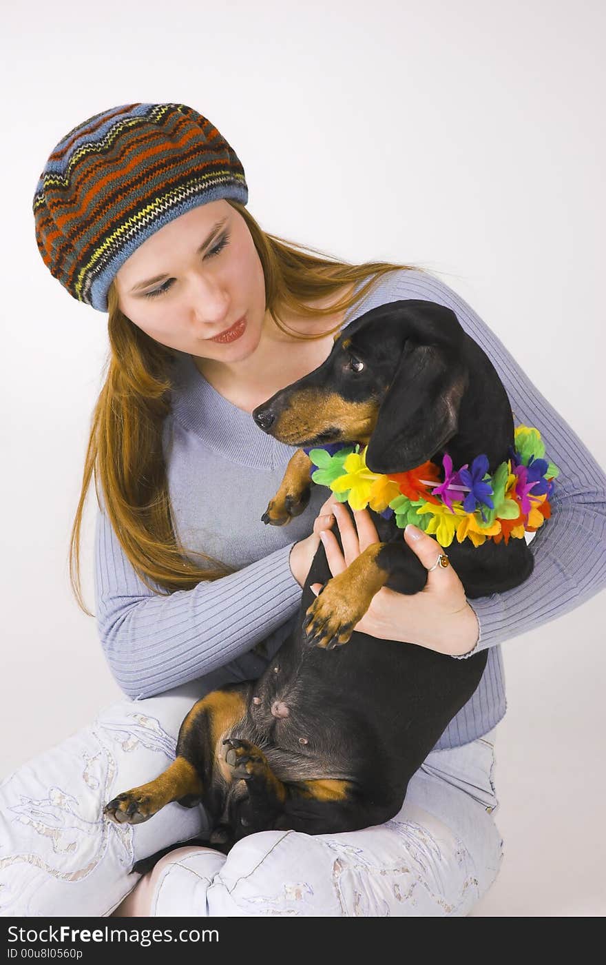
<svg viewBox="0 0 606 965">
<path fill-rule="evenodd" d="M 301 389 L 288 396 L 288 408 L 277 417 L 271 434 L 279 442 L 296 446 L 336 426 L 341 429 L 338 441 L 365 442 L 377 425 L 378 415 L 379 403 L 374 400 L 354 402 L 336 392 Z"/>
</svg>

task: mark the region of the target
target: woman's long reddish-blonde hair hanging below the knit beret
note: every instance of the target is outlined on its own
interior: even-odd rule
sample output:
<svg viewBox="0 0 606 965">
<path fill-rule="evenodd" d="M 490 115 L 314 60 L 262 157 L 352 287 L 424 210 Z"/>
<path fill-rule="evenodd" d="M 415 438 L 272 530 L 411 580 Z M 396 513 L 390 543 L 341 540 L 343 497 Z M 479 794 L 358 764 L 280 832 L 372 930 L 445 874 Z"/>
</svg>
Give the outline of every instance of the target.
<svg viewBox="0 0 606 965">
<path fill-rule="evenodd" d="M 423 270 L 390 262 L 348 264 L 315 248 L 264 232 L 250 211 L 228 202 L 244 218 L 263 265 L 266 311 L 282 331 L 301 339 L 321 339 L 337 331 L 307 335 L 294 332 L 279 317 L 291 311 L 309 318 L 347 311 L 360 301 L 383 274 L 397 269 Z M 315 255 L 308 252 L 316 252 Z M 308 301 L 325 299 L 344 285 L 367 279 L 326 308 L 309 308 Z M 89 616 L 80 582 L 80 538 L 84 505 L 94 475 L 97 502 L 105 511 L 120 545 L 142 581 L 154 593 L 191 590 L 202 580 L 216 580 L 234 569 L 204 553 L 188 549 L 200 565 L 184 556 L 171 520 L 162 427 L 170 411 L 171 348 L 160 345 L 119 310 L 114 284 L 108 294 L 110 351 L 105 381 L 92 413 L 91 434 L 82 488 L 69 543 L 69 575 L 80 608 Z M 99 493 L 100 483 L 102 495 Z M 161 588 L 161 589 L 159 589 Z"/>
</svg>

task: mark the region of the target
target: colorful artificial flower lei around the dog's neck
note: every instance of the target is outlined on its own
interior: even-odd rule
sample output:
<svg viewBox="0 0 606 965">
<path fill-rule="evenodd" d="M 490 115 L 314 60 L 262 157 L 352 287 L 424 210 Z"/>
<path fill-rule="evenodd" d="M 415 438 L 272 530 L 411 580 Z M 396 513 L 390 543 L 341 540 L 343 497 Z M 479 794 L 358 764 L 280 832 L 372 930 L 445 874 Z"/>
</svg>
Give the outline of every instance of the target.
<svg viewBox="0 0 606 965">
<path fill-rule="evenodd" d="M 441 546 L 471 539 L 481 546 L 486 539 L 509 543 L 524 533 L 535 533 L 551 515 L 549 498 L 553 480 L 560 470 L 544 458 L 540 431 L 529 426 L 514 430 L 514 448 L 491 476 L 487 455 L 477 455 L 471 467 L 466 462 L 453 472 L 453 460 L 444 453 L 442 468 L 434 462 L 406 473 L 372 473 L 366 465 L 366 451 L 359 443 L 334 443 L 310 447 L 314 483 L 327 485 L 340 503 L 353 510 L 395 516 L 404 529 L 413 523 L 435 536 Z M 440 480 L 440 474 L 443 479 Z"/>
</svg>

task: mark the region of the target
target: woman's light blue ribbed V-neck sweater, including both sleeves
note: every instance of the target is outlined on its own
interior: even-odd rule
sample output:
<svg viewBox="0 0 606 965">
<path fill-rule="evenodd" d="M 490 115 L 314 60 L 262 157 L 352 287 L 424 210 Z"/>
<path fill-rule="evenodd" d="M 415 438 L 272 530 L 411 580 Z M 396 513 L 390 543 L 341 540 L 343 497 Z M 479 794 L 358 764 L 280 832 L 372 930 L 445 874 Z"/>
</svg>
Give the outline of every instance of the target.
<svg viewBox="0 0 606 965">
<path fill-rule="evenodd" d="M 344 324 L 401 298 L 427 299 L 456 313 L 499 373 L 514 425 L 539 428 L 548 457 L 561 470 L 551 519 L 530 543 L 535 556 L 530 578 L 507 593 L 469 601 L 480 624 L 474 652 L 488 649 L 487 666 L 478 689 L 436 743 L 435 749 L 442 749 L 475 740 L 505 714 L 501 643 L 562 616 L 606 586 L 606 476 L 482 319 L 433 275 L 398 269 L 383 276 L 349 310 Z M 271 659 L 291 632 L 302 591 L 289 553 L 311 533 L 327 498 L 324 486 L 312 486 L 301 516 L 283 528 L 263 525 L 261 514 L 295 449 L 224 399 L 182 352 L 164 452 L 173 524 L 185 555 L 198 550 L 239 569 L 193 590 L 153 593 L 126 559 L 101 506 L 95 534 L 98 631 L 113 675 L 135 700 L 226 664 L 242 679 L 260 676 L 267 660 L 250 650 L 266 641 Z"/>
</svg>

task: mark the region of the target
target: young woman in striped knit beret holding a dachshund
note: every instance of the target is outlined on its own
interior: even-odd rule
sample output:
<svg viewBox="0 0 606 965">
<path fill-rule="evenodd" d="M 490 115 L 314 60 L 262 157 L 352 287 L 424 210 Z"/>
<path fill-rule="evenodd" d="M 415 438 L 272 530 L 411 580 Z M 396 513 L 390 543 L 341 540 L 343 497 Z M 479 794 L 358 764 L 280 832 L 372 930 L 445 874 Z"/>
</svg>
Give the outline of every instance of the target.
<svg viewBox="0 0 606 965">
<path fill-rule="evenodd" d="M 506 706 L 500 644 L 603 586 L 594 563 L 606 480 L 487 325 L 420 269 L 329 260 L 263 232 L 247 201 L 237 155 L 183 104 L 95 115 L 69 131 L 40 176 L 42 259 L 74 298 L 109 313 L 72 574 L 84 605 L 78 545 L 94 474 L 96 619 L 126 699 L 0 788 L 5 915 L 468 914 L 502 857 L 493 782 Z M 470 604 L 454 568 L 435 567 L 435 539 L 408 528 L 427 588 L 382 590 L 359 628 L 453 659 L 489 652 L 478 690 L 413 776 L 401 812 L 347 834 L 251 835 L 227 857 L 179 848 L 140 879 L 129 873 L 134 861 L 203 834 L 207 816 L 171 804 L 145 824 L 116 825 L 104 805 L 165 769 L 199 697 L 264 671 L 293 627 L 321 533 L 333 573 L 377 539 L 367 510 L 354 526 L 320 486 L 287 527 L 264 527 L 295 450 L 250 413 L 315 369 L 354 317 L 402 298 L 457 314 L 499 373 L 515 425 L 537 427 L 560 469 L 551 519 L 532 543 L 534 573 Z"/>
</svg>

